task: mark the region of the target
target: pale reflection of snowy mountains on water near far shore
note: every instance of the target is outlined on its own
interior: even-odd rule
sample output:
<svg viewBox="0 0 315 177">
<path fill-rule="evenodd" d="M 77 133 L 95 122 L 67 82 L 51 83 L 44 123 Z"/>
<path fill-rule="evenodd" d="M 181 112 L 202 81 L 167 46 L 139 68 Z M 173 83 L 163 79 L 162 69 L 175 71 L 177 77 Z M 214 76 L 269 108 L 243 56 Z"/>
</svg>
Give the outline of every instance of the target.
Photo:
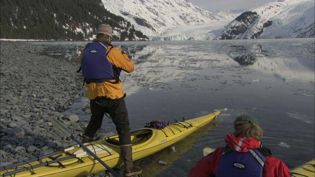
<svg viewBox="0 0 315 177">
<path fill-rule="evenodd" d="M 80 50 L 86 44 L 87 42 L 56 42 L 45 53 L 77 62 Z M 297 40 L 297 43 L 286 43 L 285 39 L 269 39 L 113 42 L 113 45 L 129 56 L 136 64 L 135 72 L 145 75 L 142 79 L 148 82 L 178 80 L 205 68 L 242 65 L 291 80 L 314 82 L 314 46 L 307 39 Z M 173 78 L 167 80 L 166 76 L 169 75 Z M 149 83 L 145 85 L 147 84 Z"/>
</svg>

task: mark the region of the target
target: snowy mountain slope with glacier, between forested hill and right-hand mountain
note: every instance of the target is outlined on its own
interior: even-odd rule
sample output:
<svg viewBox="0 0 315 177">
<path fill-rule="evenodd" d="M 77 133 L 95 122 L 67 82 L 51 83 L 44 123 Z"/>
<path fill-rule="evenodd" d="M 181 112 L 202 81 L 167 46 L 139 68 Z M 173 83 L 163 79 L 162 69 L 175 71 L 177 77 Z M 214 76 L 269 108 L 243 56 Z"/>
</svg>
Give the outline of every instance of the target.
<svg viewBox="0 0 315 177">
<path fill-rule="evenodd" d="M 215 39 L 244 10 L 209 12 L 189 0 L 102 0 L 150 40 Z"/>
</svg>

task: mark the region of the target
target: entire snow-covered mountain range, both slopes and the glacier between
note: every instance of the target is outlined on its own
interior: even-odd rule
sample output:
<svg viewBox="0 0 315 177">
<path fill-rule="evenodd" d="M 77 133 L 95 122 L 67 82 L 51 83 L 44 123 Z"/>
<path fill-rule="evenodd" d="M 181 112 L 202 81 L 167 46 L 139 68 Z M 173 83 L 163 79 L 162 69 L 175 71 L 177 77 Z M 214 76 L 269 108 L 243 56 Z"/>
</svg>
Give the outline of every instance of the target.
<svg viewBox="0 0 315 177">
<path fill-rule="evenodd" d="M 314 0 L 275 0 L 250 11 L 218 12 L 202 10 L 189 0 L 102 0 L 102 3 L 150 40 L 315 37 Z"/>
</svg>

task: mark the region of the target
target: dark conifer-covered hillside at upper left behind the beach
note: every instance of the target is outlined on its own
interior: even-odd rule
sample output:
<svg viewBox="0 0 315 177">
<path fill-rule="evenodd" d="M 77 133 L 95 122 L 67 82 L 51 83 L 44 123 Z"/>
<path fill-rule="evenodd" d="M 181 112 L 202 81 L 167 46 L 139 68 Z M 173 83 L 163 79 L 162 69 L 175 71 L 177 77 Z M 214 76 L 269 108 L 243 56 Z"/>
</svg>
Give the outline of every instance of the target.
<svg viewBox="0 0 315 177">
<path fill-rule="evenodd" d="M 87 40 L 102 23 L 122 31 L 114 40 L 147 38 L 101 0 L 0 0 L 0 19 L 1 38 Z"/>
</svg>

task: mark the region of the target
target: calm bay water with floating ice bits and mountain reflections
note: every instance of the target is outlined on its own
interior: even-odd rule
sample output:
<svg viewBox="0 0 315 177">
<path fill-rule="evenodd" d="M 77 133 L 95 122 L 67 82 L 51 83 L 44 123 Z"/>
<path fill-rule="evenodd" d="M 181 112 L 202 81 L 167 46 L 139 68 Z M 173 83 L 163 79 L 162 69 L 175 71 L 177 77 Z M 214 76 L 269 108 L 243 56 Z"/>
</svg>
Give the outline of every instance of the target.
<svg viewBox="0 0 315 177">
<path fill-rule="evenodd" d="M 315 158 L 314 41 L 114 42 L 135 63 L 134 72 L 122 73 L 131 129 L 221 110 L 216 127 L 176 144 L 175 153 L 165 149 L 143 159 L 145 177 L 186 177 L 204 147 L 225 146 L 234 118 L 242 114 L 258 119 L 263 144 L 289 168 Z M 75 63 L 86 44 L 35 43 L 50 45 L 45 55 Z M 88 120 L 90 115 L 80 113 L 85 104 L 82 98 L 69 111 Z M 115 132 L 108 118 L 102 129 Z M 169 165 L 159 166 L 159 160 Z"/>
</svg>

